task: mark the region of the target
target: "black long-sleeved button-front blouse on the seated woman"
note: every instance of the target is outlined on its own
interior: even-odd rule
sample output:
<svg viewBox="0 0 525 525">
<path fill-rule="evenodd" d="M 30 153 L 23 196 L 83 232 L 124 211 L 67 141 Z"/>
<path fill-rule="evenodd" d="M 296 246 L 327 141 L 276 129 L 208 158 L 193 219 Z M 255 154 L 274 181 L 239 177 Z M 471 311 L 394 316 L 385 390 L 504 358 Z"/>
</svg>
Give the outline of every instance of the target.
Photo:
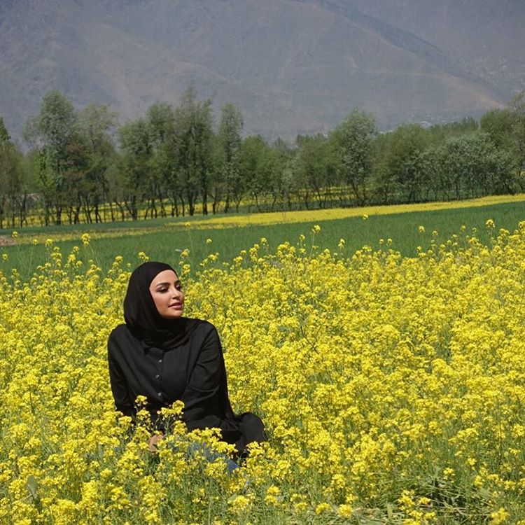
<svg viewBox="0 0 525 525">
<path fill-rule="evenodd" d="M 169 350 L 147 346 L 127 325 L 118 325 L 109 336 L 108 360 L 111 391 L 123 414 L 134 416 L 134 401 L 144 395 L 153 423 L 162 430 L 158 411 L 181 400 L 188 430 L 219 428 L 239 454 L 246 444 L 265 440 L 258 416 L 232 411 L 221 341 L 211 323 L 199 321 L 187 342 Z"/>
</svg>

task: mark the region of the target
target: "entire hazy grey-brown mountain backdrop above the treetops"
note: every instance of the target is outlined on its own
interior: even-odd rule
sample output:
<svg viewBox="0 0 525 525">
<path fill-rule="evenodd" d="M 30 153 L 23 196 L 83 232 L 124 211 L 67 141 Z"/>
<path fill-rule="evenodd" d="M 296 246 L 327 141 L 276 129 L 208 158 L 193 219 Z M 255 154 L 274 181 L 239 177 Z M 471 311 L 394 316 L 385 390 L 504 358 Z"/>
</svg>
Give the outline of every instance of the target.
<svg viewBox="0 0 525 525">
<path fill-rule="evenodd" d="M 20 137 L 57 89 L 79 107 L 110 104 L 125 122 L 155 101 L 176 104 L 189 85 L 216 109 L 233 102 L 245 132 L 270 139 L 327 132 L 356 106 L 384 129 L 479 116 L 524 81 L 521 4 L 2 0 L 0 116 Z M 514 64 L 505 78 L 504 59 Z"/>
</svg>

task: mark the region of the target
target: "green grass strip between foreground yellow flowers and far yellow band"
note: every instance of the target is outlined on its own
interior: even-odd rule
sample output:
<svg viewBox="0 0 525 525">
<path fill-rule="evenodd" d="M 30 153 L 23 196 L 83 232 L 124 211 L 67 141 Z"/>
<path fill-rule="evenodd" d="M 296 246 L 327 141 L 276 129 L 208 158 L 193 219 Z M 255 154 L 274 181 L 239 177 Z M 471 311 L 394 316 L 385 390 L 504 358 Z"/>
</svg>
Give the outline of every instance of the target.
<svg viewBox="0 0 525 525">
<path fill-rule="evenodd" d="M 392 208 L 393 211 L 396 209 Z M 238 216 L 239 223 L 242 223 L 241 219 L 248 218 L 244 221 L 246 225 L 239 226 L 235 221 L 230 222 L 232 216 L 228 216 L 228 221 L 216 224 L 209 224 L 209 219 L 207 224 L 204 218 L 197 217 L 25 228 L 18 232 L 14 246 L 0 246 L 0 268 L 6 273 L 15 267 L 22 278 L 29 276 L 37 265 L 47 260 L 45 239 L 49 237 L 53 239 L 53 246 L 59 246 L 64 254 L 69 253 L 73 246 L 80 246 L 81 250 L 86 251 L 83 258 L 92 258 L 103 268 L 109 267 L 117 255 L 122 255 L 134 267 L 141 262 L 139 252 L 145 252 L 151 260 L 164 260 L 178 265 L 181 251 L 188 249 L 188 262 L 195 272 L 210 253 L 219 253 L 216 264 L 230 263 L 241 250 L 260 242 L 261 237 L 267 239 L 269 251 L 274 251 L 276 246 L 285 241 L 296 244 L 301 234 L 305 235 L 305 243 L 309 246 L 312 242 L 311 228 L 315 224 L 321 226 L 321 232 L 313 241 L 319 249 L 337 251 L 339 239 L 345 239 L 345 254 L 351 255 L 365 245 L 379 248 L 380 239 L 384 239 L 385 243 L 391 239 L 389 247 L 403 255 L 412 256 L 417 246 L 426 248 L 433 239 L 438 244 L 444 242 L 451 235 L 458 234 L 462 225 L 465 225 L 467 234 L 472 235 L 472 229 L 475 228 L 475 236 L 489 243 L 491 235 L 495 235 L 500 228 L 512 231 L 519 221 L 525 220 L 525 202 L 433 211 L 409 211 L 409 207 L 405 207 L 404 213 L 370 215 L 367 219 L 363 216 L 330 218 L 333 215 L 330 212 L 320 210 L 313 215 L 310 213 L 304 222 L 273 225 L 258 225 L 256 221 L 251 223 L 249 216 Z M 312 221 L 312 217 L 316 219 Z M 494 221 L 495 229 L 486 228 L 487 219 Z M 419 232 L 420 225 L 425 232 Z M 434 231 L 437 235 L 433 235 Z M 84 232 L 89 232 L 91 237 L 87 248 L 83 248 L 80 240 Z M 3 230 L 0 234 L 10 237 L 12 230 Z M 31 244 L 32 239 L 37 239 L 38 244 Z M 211 239 L 211 244 L 207 244 L 207 239 Z"/>
</svg>

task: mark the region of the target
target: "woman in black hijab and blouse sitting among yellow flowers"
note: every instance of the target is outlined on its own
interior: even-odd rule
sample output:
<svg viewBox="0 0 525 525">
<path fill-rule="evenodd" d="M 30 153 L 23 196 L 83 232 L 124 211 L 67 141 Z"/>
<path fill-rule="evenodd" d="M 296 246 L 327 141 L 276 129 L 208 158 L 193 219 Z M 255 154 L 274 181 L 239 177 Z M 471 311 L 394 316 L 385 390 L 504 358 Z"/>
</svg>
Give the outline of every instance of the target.
<svg viewBox="0 0 525 525">
<path fill-rule="evenodd" d="M 183 317 L 184 292 L 175 270 L 163 262 L 145 262 L 132 272 L 124 299 L 125 324 L 108 340 L 109 377 L 116 408 L 134 416 L 137 395 L 145 395 L 158 433 L 158 411 L 176 400 L 184 403 L 188 430 L 218 428 L 239 456 L 250 442 L 265 440 L 262 421 L 235 415 L 228 398 L 221 342 L 214 325 Z"/>
</svg>

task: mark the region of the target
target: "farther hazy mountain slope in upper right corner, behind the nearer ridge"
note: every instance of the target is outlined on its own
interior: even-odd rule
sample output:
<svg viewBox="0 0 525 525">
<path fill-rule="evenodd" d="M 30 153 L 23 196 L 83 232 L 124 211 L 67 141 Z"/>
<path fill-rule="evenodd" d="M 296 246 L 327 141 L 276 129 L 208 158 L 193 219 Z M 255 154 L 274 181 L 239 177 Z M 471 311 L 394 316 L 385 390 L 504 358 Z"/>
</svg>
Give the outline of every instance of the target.
<svg viewBox="0 0 525 525">
<path fill-rule="evenodd" d="M 416 32 L 505 96 L 525 90 L 523 0 L 352 0 L 371 18 Z"/>
</svg>

